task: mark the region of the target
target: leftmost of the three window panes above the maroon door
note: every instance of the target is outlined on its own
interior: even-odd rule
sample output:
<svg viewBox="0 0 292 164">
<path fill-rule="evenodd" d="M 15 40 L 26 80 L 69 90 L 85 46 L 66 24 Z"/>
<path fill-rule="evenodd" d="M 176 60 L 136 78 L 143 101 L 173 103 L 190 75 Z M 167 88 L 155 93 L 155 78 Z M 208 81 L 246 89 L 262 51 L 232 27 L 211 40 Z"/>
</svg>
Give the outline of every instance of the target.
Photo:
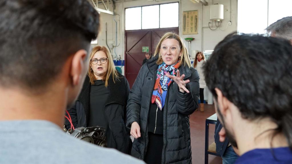
<svg viewBox="0 0 292 164">
<path fill-rule="evenodd" d="M 125 29 L 141 29 L 141 7 L 126 8 Z"/>
</svg>

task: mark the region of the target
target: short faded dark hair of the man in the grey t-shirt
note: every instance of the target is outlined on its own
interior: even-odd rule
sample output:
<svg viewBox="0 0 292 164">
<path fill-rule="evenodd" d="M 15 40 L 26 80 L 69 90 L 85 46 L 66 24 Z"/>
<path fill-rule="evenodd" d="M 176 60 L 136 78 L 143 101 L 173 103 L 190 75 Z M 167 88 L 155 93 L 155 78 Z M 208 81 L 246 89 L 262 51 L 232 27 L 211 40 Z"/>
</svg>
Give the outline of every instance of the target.
<svg viewBox="0 0 292 164">
<path fill-rule="evenodd" d="M 86 0 L 0 0 L 0 85 L 46 86 L 65 60 L 89 50 L 99 14 Z"/>
</svg>

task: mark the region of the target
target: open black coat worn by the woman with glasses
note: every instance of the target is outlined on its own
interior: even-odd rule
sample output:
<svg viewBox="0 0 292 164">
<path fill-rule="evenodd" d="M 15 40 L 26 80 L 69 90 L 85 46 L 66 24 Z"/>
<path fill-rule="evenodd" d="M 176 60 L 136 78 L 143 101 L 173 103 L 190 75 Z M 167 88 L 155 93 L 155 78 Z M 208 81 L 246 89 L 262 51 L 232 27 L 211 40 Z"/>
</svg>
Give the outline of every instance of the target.
<svg viewBox="0 0 292 164">
<path fill-rule="evenodd" d="M 114 83 L 112 76 L 110 76 L 108 85 L 109 98 L 104 107 L 109 129 L 112 132 L 112 135 L 110 135 L 112 138 L 107 138 L 107 141 L 111 141 L 107 142 L 107 147 L 115 148 L 123 153 L 129 154 L 131 152 L 132 141 L 125 123 L 126 105 L 130 89 L 127 79 L 121 74 L 119 74 L 119 77 L 121 78 Z M 75 105 L 68 109 L 75 128 L 87 127 L 88 120 L 86 118 L 89 118 L 90 111 L 90 87 L 91 84 L 87 76 Z M 65 120 L 65 126 L 67 129 L 70 128 L 70 123 L 67 119 Z"/>
</svg>

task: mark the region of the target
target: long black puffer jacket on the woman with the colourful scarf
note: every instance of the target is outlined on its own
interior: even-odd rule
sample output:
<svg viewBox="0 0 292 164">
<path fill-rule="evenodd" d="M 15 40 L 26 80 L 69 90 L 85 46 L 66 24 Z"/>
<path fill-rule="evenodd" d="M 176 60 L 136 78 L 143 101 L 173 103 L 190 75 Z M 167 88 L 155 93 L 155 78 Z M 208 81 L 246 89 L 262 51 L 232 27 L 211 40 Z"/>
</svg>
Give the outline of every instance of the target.
<svg viewBox="0 0 292 164">
<path fill-rule="evenodd" d="M 131 155 L 139 159 L 144 159 L 147 150 L 147 121 L 158 69 L 157 59 L 158 55 L 147 60 L 147 64 L 142 66 L 127 104 L 126 126 L 131 129 L 134 121 L 140 125 L 141 137 L 134 140 L 131 151 Z M 196 69 L 188 66 L 182 65 L 179 70 L 181 75 L 185 74 L 184 80 L 190 80 L 186 85 L 190 93 L 179 92 L 178 85 L 174 82 L 168 88 L 164 104 L 163 164 L 192 163 L 189 115 L 198 108 L 199 75 Z"/>
</svg>

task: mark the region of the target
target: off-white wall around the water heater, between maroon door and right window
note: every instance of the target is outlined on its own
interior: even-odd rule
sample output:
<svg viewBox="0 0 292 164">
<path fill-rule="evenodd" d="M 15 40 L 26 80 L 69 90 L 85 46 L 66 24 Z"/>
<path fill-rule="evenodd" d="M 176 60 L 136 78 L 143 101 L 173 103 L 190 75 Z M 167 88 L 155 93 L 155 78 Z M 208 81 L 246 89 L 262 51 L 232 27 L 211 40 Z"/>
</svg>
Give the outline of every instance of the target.
<svg viewBox="0 0 292 164">
<path fill-rule="evenodd" d="M 224 39 L 224 37 L 227 34 L 237 31 L 237 23 L 236 23 L 237 22 L 236 20 L 237 0 L 213 0 L 213 1 L 207 0 L 207 1 L 208 1 L 208 6 L 204 6 L 202 4 L 194 4 L 190 0 L 181 0 L 182 11 L 198 10 L 198 16 L 199 16 L 198 34 L 181 35 L 183 38 L 185 37 L 195 38 L 195 40 L 192 41 L 191 43 L 192 50 L 199 50 L 199 51 L 213 50 L 216 44 L 220 42 L 222 39 Z M 231 18 L 230 18 L 230 1 L 231 1 Z M 214 31 L 209 29 L 208 27 L 208 22 L 212 22 L 210 20 L 210 5 L 211 4 L 224 5 L 224 20 L 221 23 L 221 27 Z M 227 27 L 228 21 L 231 21 L 231 25 Z M 215 24 L 213 24 L 213 27 L 211 28 L 215 29 Z"/>
</svg>

